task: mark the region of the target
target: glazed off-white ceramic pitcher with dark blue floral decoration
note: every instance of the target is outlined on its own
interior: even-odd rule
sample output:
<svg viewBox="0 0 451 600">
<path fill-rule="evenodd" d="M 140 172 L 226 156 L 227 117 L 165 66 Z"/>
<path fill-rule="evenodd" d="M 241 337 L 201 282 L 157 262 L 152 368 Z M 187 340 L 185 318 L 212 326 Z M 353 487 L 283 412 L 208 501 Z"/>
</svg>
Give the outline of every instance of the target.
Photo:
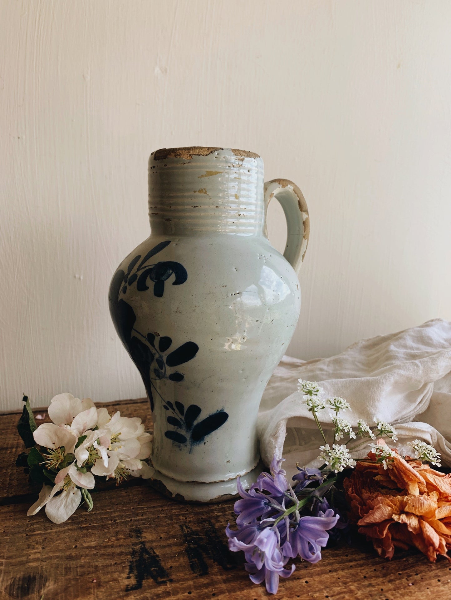
<svg viewBox="0 0 451 600">
<path fill-rule="evenodd" d="M 273 197 L 284 256 L 267 239 Z M 211 502 L 261 470 L 258 405 L 299 316 L 307 206 L 291 181 L 264 183 L 258 154 L 172 148 L 149 158 L 149 216 L 151 236 L 113 277 L 110 312 L 151 402 L 154 485 Z"/>
</svg>

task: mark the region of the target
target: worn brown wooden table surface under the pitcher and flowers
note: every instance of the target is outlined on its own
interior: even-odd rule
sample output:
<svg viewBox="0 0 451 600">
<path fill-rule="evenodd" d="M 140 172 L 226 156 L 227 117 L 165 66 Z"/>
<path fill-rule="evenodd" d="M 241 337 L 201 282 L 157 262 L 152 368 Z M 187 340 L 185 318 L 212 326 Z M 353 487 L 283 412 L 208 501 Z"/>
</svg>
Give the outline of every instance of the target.
<svg viewBox="0 0 451 600">
<path fill-rule="evenodd" d="M 140 416 L 151 430 L 146 400 L 104 406 Z M 43 417 L 38 424 L 47 419 L 44 409 L 34 413 Z M 411 551 L 389 562 L 365 541 L 326 548 L 316 565 L 296 559 L 294 574 L 281 579 L 277 595 L 270 596 L 249 580 L 242 553 L 228 551 L 224 528 L 233 519 L 233 501 L 182 504 L 141 479 L 120 488 L 103 485 L 93 494 L 92 512 L 82 506 L 61 525 L 51 523 L 44 510 L 27 517 L 37 491 L 14 465 L 23 451 L 18 419 L 19 413 L 0 415 L 1 599 L 451 599 L 446 559 L 434 565 Z"/>
</svg>

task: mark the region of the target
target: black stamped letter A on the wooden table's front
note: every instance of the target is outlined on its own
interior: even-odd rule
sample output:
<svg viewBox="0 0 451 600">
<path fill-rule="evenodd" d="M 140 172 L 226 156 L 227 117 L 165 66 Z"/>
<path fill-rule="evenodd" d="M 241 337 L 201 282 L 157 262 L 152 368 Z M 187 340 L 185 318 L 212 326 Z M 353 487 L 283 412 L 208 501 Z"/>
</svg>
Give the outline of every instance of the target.
<svg viewBox="0 0 451 600">
<path fill-rule="evenodd" d="M 142 541 L 142 533 L 139 528 L 131 532 L 136 541 L 131 544 L 131 560 L 128 566 L 127 579 L 134 578 L 135 583 L 128 584 L 125 587 L 125 592 L 140 590 L 143 587 L 143 581 L 149 578 L 159 585 L 172 582 L 166 569 L 161 564 L 160 556 L 154 548 L 148 547 L 146 542 Z"/>
</svg>

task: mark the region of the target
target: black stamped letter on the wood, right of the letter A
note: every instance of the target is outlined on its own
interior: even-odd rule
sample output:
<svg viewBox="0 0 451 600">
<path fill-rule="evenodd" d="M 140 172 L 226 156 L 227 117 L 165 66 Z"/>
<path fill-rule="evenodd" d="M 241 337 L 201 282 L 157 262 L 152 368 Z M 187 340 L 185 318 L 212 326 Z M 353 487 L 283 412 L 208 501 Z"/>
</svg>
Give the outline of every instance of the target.
<svg viewBox="0 0 451 600">
<path fill-rule="evenodd" d="M 224 571 L 236 568 L 235 557 L 228 550 L 223 539 L 224 536 L 218 533 L 212 521 L 202 521 L 201 525 L 202 533 L 191 529 L 188 524 L 180 526 L 191 571 L 195 575 L 208 575 L 208 564 L 205 557 L 213 560 Z"/>
</svg>

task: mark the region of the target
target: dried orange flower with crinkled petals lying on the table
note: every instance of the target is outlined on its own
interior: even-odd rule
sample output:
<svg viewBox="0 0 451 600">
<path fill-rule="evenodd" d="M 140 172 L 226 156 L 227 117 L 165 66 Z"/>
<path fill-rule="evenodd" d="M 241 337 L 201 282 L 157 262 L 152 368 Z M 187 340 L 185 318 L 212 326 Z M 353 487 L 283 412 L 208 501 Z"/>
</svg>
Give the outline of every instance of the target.
<svg viewBox="0 0 451 600">
<path fill-rule="evenodd" d="M 381 450 L 386 446 L 383 440 L 377 444 Z M 395 548 L 415 546 L 432 562 L 437 554 L 451 562 L 451 475 L 404 460 L 396 451 L 389 468 L 376 460 L 370 452 L 344 481 L 350 521 L 381 557 L 391 559 Z"/>
</svg>

